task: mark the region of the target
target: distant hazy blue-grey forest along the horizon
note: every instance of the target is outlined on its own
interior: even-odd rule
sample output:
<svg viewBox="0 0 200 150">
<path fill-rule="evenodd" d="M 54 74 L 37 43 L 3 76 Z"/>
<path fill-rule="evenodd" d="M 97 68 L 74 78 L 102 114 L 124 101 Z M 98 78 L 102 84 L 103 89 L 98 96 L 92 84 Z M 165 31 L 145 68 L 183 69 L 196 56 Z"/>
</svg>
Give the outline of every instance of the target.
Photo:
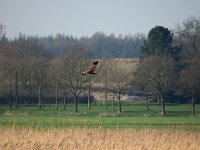
<svg viewBox="0 0 200 150">
<path fill-rule="evenodd" d="M 91 37 L 81 38 L 65 34 L 45 37 L 30 37 L 19 34 L 17 38 L 10 40 L 10 42 L 28 42 L 31 39 L 37 41 L 37 45 L 45 49 L 52 57 L 61 56 L 63 52 L 80 42 L 93 58 L 138 58 L 140 56 L 140 48 L 146 37 L 142 33 L 115 36 L 114 34 L 106 35 L 103 32 L 96 32 Z M 9 41 L 6 36 L 4 37 L 5 41 Z"/>
</svg>

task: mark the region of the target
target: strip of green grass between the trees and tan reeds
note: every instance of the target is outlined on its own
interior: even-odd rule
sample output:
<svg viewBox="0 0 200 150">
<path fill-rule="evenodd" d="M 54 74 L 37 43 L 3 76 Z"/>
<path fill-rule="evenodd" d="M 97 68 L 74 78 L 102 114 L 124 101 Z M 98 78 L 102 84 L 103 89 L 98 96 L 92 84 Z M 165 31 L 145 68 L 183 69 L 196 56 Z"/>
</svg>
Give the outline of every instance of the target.
<svg viewBox="0 0 200 150">
<path fill-rule="evenodd" d="M 73 105 L 67 105 L 66 110 L 60 105 L 56 110 L 54 105 L 20 106 L 19 109 L 7 110 L 0 106 L 0 126 L 31 127 L 31 128 L 160 128 L 200 131 L 200 105 L 196 105 L 196 117 L 191 116 L 191 106 L 166 105 L 166 116 L 160 114 L 160 106 L 146 106 L 135 103 L 123 103 L 122 113 L 115 112 L 111 105 L 105 110 L 103 105 L 79 105 L 79 113 L 73 113 Z"/>
</svg>

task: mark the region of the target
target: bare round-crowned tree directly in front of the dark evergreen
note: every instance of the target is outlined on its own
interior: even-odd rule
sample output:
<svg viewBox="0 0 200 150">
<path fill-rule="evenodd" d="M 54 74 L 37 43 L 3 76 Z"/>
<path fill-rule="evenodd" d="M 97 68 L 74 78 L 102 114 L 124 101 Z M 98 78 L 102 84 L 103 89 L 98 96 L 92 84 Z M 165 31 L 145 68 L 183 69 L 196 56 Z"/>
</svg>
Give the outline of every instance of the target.
<svg viewBox="0 0 200 150">
<path fill-rule="evenodd" d="M 141 61 L 137 69 L 137 78 L 141 84 L 148 85 L 152 90 L 158 92 L 162 114 L 165 115 L 164 92 L 172 86 L 175 75 L 175 64 L 170 56 L 150 56 Z"/>
</svg>

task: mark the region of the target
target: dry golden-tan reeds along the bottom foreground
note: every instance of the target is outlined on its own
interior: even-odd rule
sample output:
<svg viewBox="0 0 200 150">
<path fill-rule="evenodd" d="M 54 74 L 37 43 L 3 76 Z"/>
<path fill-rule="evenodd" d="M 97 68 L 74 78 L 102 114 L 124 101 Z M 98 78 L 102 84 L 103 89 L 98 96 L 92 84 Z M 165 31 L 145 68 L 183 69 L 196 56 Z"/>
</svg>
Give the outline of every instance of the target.
<svg viewBox="0 0 200 150">
<path fill-rule="evenodd" d="M 200 132 L 135 129 L 0 128 L 3 150 L 197 150 Z"/>
</svg>

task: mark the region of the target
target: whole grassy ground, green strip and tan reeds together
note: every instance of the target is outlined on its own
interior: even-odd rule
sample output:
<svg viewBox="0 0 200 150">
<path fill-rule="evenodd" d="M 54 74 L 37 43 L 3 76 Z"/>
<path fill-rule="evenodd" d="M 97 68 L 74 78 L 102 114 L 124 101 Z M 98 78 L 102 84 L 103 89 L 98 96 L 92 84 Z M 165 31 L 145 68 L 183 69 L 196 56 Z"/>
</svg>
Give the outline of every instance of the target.
<svg viewBox="0 0 200 150">
<path fill-rule="evenodd" d="M 166 105 L 167 115 L 160 106 L 123 103 L 122 113 L 112 105 L 73 105 L 66 110 L 59 105 L 21 106 L 7 110 L 0 106 L 0 149 L 182 149 L 197 150 L 200 145 L 200 105 L 196 117 L 190 105 Z"/>
</svg>

